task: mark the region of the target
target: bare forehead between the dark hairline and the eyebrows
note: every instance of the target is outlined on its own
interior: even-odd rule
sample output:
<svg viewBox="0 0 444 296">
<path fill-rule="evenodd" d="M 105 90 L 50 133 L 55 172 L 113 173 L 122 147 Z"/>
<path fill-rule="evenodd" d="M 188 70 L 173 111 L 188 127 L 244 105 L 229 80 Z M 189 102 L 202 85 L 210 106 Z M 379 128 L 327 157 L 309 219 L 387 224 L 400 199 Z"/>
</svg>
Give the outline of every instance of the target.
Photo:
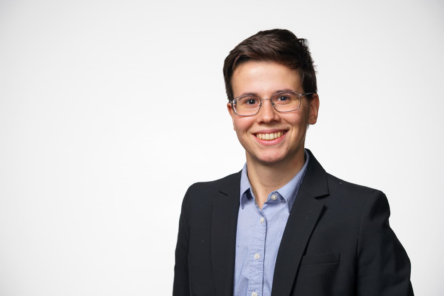
<svg viewBox="0 0 444 296">
<path fill-rule="evenodd" d="M 283 89 L 303 92 L 299 71 L 275 62 L 250 60 L 240 64 L 231 85 L 234 97 L 248 92 L 270 96 Z"/>
</svg>

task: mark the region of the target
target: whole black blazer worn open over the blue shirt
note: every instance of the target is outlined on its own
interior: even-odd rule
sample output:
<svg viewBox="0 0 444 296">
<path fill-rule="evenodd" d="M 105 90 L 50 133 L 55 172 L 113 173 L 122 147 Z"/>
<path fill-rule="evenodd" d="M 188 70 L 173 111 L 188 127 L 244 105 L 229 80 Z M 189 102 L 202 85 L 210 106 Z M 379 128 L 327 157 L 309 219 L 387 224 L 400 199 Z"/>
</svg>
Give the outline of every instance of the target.
<svg viewBox="0 0 444 296">
<path fill-rule="evenodd" d="M 277 253 L 271 295 L 413 295 L 410 260 L 389 226 L 385 194 L 327 174 L 309 154 Z M 233 295 L 240 178 L 238 172 L 186 192 L 174 296 Z"/>
</svg>

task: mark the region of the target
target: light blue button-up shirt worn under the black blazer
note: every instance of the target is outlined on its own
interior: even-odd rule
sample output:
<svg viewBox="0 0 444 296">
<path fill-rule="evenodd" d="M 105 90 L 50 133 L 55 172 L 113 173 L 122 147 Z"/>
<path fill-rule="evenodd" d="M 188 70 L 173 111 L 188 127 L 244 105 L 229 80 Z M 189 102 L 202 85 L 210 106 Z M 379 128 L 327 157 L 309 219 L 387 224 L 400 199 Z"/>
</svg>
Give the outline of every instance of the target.
<svg viewBox="0 0 444 296">
<path fill-rule="evenodd" d="M 305 150 L 302 169 L 283 187 L 271 192 L 262 209 L 255 202 L 247 165 L 242 169 L 234 296 L 270 296 L 277 251 L 308 162 Z"/>
</svg>

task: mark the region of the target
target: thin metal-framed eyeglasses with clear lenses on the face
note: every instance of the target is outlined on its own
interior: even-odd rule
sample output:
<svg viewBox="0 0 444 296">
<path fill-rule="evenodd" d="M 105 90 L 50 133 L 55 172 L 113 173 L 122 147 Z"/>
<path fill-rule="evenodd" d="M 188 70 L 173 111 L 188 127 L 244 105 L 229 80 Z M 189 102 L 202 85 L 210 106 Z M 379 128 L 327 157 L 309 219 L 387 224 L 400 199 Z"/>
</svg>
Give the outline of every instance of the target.
<svg viewBox="0 0 444 296">
<path fill-rule="evenodd" d="M 311 95 L 314 92 L 301 94 L 297 91 L 282 91 L 274 94 L 270 99 L 261 99 L 255 95 L 241 95 L 229 101 L 234 113 L 238 116 L 253 116 L 261 110 L 262 101 L 270 100 L 271 106 L 277 112 L 285 113 L 299 109 L 301 107 L 301 96 Z"/>
</svg>

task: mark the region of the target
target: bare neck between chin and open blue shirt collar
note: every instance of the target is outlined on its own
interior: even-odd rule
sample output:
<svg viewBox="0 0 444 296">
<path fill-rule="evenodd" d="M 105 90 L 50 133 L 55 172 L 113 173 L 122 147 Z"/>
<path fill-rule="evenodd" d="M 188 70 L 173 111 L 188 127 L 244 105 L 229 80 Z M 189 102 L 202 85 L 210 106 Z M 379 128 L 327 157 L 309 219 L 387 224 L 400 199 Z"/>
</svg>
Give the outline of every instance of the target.
<svg viewBox="0 0 444 296">
<path fill-rule="evenodd" d="M 305 163 L 303 147 L 292 160 L 281 161 L 273 165 L 258 162 L 251 158 L 249 154 L 246 156 L 248 180 L 256 203 L 261 209 L 270 192 L 287 184 L 302 169 Z"/>
</svg>

